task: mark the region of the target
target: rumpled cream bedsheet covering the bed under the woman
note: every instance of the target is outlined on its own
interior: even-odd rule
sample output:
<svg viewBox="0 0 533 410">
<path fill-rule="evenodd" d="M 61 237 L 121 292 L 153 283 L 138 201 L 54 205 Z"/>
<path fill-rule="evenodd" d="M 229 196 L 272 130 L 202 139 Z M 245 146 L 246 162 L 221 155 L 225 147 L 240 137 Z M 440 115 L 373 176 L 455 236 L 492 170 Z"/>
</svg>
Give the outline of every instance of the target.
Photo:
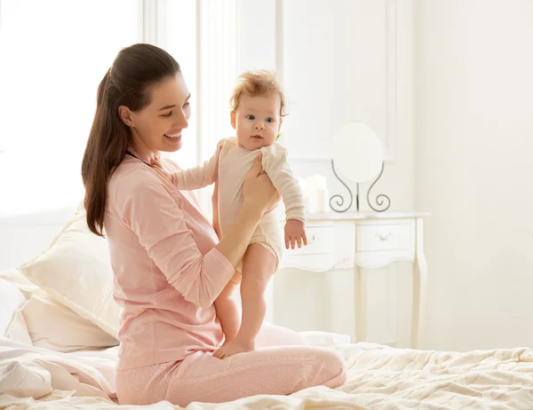
<svg viewBox="0 0 533 410">
<path fill-rule="evenodd" d="M 187 410 L 533 409 L 533 352 L 529 349 L 447 353 L 370 343 L 332 349 L 346 357 L 349 367 L 348 382 L 338 390 L 316 387 L 290 397 L 263 395 L 224 405 L 193 403 Z M 0 407 L 126 408 L 111 399 L 115 397 L 115 359 L 115 349 L 57 353 L 0 339 L 0 391 L 7 387 L 22 396 L 4 395 Z M 161 402 L 143 408 L 180 407 Z"/>
</svg>

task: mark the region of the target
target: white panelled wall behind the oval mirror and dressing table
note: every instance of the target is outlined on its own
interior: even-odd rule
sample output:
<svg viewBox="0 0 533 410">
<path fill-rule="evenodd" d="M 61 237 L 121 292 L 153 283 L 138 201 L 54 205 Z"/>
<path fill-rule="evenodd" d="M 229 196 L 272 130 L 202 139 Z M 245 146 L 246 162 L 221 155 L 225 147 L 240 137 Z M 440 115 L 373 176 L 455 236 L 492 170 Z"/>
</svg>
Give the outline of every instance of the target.
<svg viewBox="0 0 533 410">
<path fill-rule="evenodd" d="M 282 142 L 293 169 L 322 174 L 331 194 L 345 194 L 330 169 L 330 141 L 346 122 L 367 122 L 391 159 L 375 189 L 389 195 L 390 210 L 413 210 L 411 1 L 290 0 L 281 14 L 276 67 L 289 101 Z M 410 265 L 367 272 L 370 341 L 409 345 Z M 354 292 L 351 271 L 277 272 L 274 321 L 354 335 Z"/>
</svg>

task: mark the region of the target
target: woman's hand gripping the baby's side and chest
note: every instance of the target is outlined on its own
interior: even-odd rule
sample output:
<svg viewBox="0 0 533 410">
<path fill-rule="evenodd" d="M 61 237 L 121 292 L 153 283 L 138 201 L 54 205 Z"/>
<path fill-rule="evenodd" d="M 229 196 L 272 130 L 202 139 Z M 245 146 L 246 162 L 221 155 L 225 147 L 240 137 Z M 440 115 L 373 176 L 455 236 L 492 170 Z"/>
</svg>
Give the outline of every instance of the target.
<svg viewBox="0 0 533 410">
<path fill-rule="evenodd" d="M 262 154 L 258 155 L 243 182 L 243 207 L 257 209 L 261 215 L 274 209 L 282 198 L 270 178 L 263 172 L 262 157 Z"/>
</svg>

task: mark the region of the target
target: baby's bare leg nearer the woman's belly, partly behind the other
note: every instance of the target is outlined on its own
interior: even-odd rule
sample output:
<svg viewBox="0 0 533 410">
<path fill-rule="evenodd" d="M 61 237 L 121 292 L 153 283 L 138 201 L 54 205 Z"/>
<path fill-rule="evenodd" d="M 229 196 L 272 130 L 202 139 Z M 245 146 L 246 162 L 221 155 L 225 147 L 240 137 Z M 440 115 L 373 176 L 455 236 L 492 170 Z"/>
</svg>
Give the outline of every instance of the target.
<svg viewBox="0 0 533 410">
<path fill-rule="evenodd" d="M 241 281 L 241 274 L 236 272 L 233 279 L 230 280 L 226 288 L 220 292 L 219 297 L 215 299 L 215 309 L 217 317 L 220 321 L 220 326 L 225 336 L 225 344 L 235 339 L 239 327 L 241 326 L 241 315 L 234 293 Z M 217 353 L 217 352 L 215 352 Z M 218 355 L 215 354 L 215 357 Z"/>
</svg>

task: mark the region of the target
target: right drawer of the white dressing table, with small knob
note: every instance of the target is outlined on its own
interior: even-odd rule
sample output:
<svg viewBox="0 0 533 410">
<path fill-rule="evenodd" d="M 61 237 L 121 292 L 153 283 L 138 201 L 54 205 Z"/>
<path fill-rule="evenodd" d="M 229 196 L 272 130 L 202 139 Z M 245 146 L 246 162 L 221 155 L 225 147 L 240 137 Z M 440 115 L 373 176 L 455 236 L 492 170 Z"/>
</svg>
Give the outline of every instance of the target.
<svg viewBox="0 0 533 410">
<path fill-rule="evenodd" d="M 413 247 L 412 224 L 358 225 L 356 251 L 408 250 Z"/>
</svg>

